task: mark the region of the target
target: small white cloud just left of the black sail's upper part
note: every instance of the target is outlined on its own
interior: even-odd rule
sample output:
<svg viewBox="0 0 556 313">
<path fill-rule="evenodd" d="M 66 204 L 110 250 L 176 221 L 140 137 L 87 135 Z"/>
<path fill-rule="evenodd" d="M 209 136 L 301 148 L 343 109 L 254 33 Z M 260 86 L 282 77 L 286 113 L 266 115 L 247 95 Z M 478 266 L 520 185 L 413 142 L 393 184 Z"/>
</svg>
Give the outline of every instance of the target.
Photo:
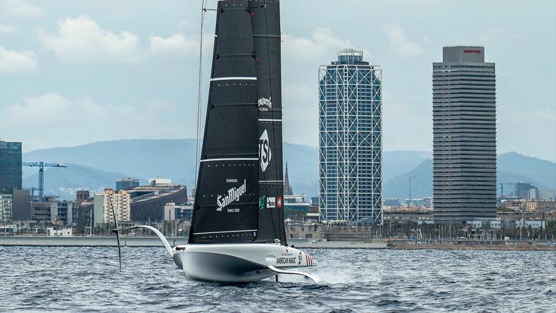
<svg viewBox="0 0 556 313">
<path fill-rule="evenodd" d="M 149 50 L 154 55 L 182 56 L 198 51 L 199 39 L 176 33 L 168 38 L 152 36 Z"/>
</svg>

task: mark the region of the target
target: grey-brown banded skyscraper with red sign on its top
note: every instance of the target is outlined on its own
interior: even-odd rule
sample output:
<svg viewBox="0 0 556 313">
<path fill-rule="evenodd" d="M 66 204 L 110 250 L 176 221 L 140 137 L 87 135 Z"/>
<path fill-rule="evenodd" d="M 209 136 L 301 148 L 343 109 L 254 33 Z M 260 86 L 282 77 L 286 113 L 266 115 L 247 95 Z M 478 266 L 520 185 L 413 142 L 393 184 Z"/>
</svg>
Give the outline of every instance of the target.
<svg viewBox="0 0 556 313">
<path fill-rule="evenodd" d="M 496 218 L 496 74 L 484 47 L 432 63 L 434 218 Z"/>
</svg>

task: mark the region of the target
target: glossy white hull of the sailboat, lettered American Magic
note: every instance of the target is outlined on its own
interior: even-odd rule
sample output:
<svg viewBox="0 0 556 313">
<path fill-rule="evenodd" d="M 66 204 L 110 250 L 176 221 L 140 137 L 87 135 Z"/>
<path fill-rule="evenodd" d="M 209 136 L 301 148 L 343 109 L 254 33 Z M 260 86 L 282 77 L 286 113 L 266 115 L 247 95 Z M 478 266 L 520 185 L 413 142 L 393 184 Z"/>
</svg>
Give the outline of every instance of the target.
<svg viewBox="0 0 556 313">
<path fill-rule="evenodd" d="M 186 278 L 204 282 L 254 282 L 278 274 L 268 266 L 316 266 L 305 252 L 272 243 L 190 244 L 174 249 L 174 262 Z"/>
</svg>

